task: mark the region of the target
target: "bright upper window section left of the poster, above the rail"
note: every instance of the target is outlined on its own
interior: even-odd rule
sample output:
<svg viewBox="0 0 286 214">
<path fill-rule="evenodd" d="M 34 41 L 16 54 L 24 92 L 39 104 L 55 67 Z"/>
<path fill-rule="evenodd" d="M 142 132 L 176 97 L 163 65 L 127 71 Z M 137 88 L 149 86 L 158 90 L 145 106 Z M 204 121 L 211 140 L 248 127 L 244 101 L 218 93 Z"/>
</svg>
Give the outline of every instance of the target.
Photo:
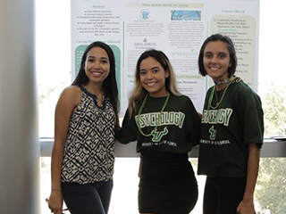
<svg viewBox="0 0 286 214">
<path fill-rule="evenodd" d="M 54 137 L 55 104 L 71 85 L 71 3 L 36 1 L 39 136 Z"/>
</svg>

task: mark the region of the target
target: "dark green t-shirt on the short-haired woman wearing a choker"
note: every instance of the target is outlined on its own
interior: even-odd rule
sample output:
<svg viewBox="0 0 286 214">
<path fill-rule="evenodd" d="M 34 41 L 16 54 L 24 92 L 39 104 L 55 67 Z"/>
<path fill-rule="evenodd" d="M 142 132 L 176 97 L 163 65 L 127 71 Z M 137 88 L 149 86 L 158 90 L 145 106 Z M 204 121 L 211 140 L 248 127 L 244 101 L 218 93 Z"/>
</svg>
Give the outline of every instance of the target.
<svg viewBox="0 0 286 214">
<path fill-rule="evenodd" d="M 247 175 L 248 144 L 263 143 L 264 121 L 259 96 L 242 80 L 228 87 L 213 109 L 206 93 L 199 144 L 198 174 L 210 177 Z M 223 90 L 218 97 L 223 96 Z M 212 106 L 215 107 L 214 96 Z"/>
</svg>

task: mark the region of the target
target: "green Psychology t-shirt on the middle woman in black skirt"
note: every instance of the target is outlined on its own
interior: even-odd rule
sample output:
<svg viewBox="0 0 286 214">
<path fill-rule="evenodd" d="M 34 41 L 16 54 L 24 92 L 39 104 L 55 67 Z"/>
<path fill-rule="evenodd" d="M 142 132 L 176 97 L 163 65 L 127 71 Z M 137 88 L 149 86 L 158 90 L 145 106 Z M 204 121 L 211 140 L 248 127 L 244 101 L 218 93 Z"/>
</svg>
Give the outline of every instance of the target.
<svg viewBox="0 0 286 214">
<path fill-rule="evenodd" d="M 131 117 L 129 111 L 126 111 L 116 139 L 122 144 L 137 141 L 137 152 L 145 149 L 176 153 L 191 151 L 199 141 L 200 119 L 188 96 L 171 94 L 156 132 L 152 136 L 140 134 L 138 124 L 144 134 L 156 128 L 165 99 L 148 96 L 140 118 L 139 108 L 143 101 L 139 100 Z"/>
</svg>

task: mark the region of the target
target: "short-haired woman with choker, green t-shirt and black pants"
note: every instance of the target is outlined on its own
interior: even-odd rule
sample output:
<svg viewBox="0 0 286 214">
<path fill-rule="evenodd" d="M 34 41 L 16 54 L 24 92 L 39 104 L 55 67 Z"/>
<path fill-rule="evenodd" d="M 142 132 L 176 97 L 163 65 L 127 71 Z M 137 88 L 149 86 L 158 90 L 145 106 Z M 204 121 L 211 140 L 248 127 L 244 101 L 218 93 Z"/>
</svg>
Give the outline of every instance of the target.
<svg viewBox="0 0 286 214">
<path fill-rule="evenodd" d="M 206 93 L 199 144 L 198 174 L 206 175 L 204 214 L 254 214 L 264 133 L 260 98 L 234 76 L 237 56 L 229 37 L 206 38 L 198 67 L 214 81 Z"/>
</svg>

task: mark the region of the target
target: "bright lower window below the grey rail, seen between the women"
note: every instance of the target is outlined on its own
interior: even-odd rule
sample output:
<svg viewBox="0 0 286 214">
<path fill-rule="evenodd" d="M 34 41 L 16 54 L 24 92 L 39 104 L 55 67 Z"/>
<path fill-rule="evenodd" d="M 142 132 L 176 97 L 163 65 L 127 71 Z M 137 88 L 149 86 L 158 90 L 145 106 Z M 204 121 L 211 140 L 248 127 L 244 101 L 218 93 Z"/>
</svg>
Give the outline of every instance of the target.
<svg viewBox="0 0 286 214">
<path fill-rule="evenodd" d="M 197 170 L 198 159 L 189 159 L 194 170 Z M 41 158 L 41 202 L 42 214 L 51 213 L 45 198 L 49 196 L 50 157 Z M 281 214 L 286 209 L 285 185 L 286 158 L 261 158 L 259 177 L 255 192 L 257 214 Z M 110 203 L 109 214 L 138 213 L 137 193 L 139 177 L 139 158 L 116 158 L 114 168 L 114 190 Z M 198 202 L 192 214 L 202 213 L 205 176 L 197 176 Z M 66 214 L 69 214 L 67 211 Z"/>
</svg>

